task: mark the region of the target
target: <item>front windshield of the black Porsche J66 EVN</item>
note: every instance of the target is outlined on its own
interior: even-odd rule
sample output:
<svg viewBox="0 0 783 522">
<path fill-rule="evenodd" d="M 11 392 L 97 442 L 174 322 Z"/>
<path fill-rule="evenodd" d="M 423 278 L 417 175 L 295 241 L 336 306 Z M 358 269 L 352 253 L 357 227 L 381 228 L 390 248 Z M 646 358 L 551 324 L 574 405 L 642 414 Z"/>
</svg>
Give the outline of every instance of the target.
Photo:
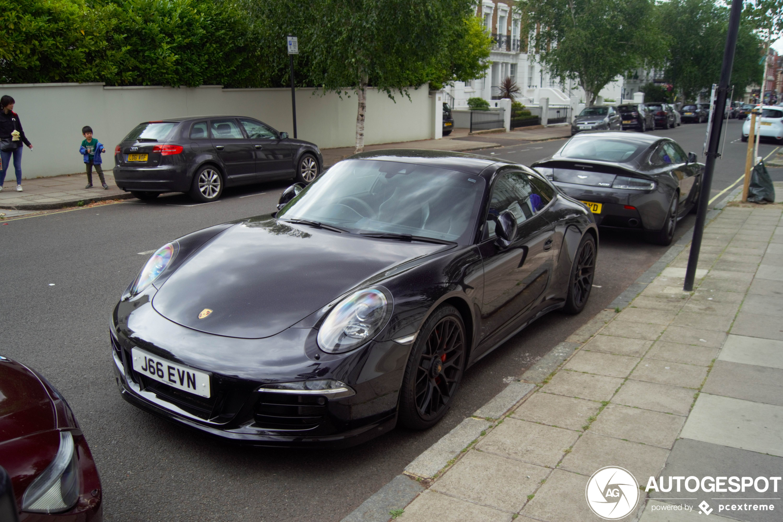
<svg viewBox="0 0 783 522">
<path fill-rule="evenodd" d="M 277 218 L 467 244 L 484 188 L 482 177 L 446 168 L 345 160 L 302 190 Z"/>
</svg>

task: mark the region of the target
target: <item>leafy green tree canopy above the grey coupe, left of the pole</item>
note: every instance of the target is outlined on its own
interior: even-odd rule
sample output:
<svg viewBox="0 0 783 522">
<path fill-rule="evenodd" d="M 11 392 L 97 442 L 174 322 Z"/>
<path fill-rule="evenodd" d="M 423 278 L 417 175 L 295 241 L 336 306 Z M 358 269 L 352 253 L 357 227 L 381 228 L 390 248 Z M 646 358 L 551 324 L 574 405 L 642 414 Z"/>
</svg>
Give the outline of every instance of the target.
<svg viewBox="0 0 783 522">
<path fill-rule="evenodd" d="M 615 77 L 666 55 L 653 0 L 521 0 L 517 9 L 536 32 L 532 49 L 551 74 L 579 81 L 589 106 Z"/>
</svg>

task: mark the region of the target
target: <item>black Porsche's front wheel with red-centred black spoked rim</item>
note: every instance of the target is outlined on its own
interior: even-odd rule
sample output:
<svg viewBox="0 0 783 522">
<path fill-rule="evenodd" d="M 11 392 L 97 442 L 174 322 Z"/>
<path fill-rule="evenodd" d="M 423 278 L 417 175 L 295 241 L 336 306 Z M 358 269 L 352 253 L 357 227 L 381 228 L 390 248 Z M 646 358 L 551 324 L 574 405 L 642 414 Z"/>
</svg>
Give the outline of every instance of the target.
<svg viewBox="0 0 783 522">
<path fill-rule="evenodd" d="M 449 410 L 465 368 L 465 326 L 448 304 L 424 322 L 413 344 L 399 399 L 399 422 L 426 430 Z"/>
</svg>

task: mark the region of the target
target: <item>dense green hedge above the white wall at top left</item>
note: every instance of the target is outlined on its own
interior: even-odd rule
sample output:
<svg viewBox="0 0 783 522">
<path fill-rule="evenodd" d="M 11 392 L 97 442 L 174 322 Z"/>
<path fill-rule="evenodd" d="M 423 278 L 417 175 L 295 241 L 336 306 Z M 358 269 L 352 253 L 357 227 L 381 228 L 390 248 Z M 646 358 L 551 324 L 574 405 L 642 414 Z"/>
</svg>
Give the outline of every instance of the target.
<svg viewBox="0 0 783 522">
<path fill-rule="evenodd" d="M 212 0 L 0 0 L 0 83 L 258 83 L 247 16 Z"/>
</svg>

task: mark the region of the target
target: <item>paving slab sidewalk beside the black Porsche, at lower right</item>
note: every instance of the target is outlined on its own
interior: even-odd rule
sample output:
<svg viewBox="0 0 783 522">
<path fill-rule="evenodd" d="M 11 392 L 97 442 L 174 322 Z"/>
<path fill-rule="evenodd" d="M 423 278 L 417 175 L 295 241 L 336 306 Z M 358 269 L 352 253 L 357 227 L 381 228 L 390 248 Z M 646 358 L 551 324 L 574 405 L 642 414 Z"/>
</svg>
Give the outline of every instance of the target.
<svg viewBox="0 0 783 522">
<path fill-rule="evenodd" d="M 641 488 L 661 476 L 779 477 L 781 209 L 724 208 L 705 229 L 695 291 L 687 293 L 689 250 L 622 311 L 601 312 L 590 332 L 558 347 L 559 369 L 524 373 L 520 385 L 534 388 L 500 419 L 471 417 L 482 432 L 440 470 L 409 466 L 406 474 L 428 488 L 395 506 L 404 509 L 397 520 L 601 520 L 585 488 L 604 466 L 629 470 Z M 623 520 L 695 520 L 702 501 L 719 521 L 783 520 L 781 488 L 640 491 Z M 751 508 L 724 510 L 734 500 Z M 760 503 L 774 511 L 752 509 Z"/>
</svg>

